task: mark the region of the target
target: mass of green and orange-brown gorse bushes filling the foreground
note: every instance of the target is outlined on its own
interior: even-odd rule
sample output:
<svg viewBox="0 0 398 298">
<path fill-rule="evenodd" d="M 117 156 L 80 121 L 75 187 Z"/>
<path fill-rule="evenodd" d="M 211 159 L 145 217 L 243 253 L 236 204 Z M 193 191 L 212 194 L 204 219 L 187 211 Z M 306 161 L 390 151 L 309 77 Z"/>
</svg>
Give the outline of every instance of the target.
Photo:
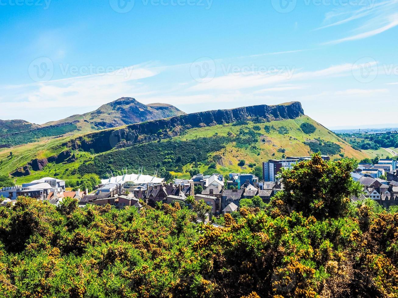
<svg viewBox="0 0 398 298">
<path fill-rule="evenodd" d="M 0 207 L 4 297 L 396 297 L 398 208 L 352 204 L 348 159 L 284 170 L 269 204 L 242 200 L 222 227 L 207 206 L 140 212 L 20 197 Z"/>
</svg>

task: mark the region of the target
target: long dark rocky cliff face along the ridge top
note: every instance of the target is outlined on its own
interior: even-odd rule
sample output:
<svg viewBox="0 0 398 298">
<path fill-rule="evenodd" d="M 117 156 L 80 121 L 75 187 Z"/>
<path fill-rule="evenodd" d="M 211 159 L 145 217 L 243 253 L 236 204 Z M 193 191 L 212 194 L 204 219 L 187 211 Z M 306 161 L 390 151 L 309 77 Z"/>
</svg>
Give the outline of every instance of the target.
<svg viewBox="0 0 398 298">
<path fill-rule="evenodd" d="M 103 130 L 78 137 L 64 145 L 85 151 L 94 149 L 96 153 L 100 153 L 115 147 L 127 147 L 137 143 L 170 138 L 189 128 L 228 124 L 239 120 L 250 120 L 254 117 L 260 117 L 266 121 L 295 119 L 303 114 L 304 111 L 299 102 L 212 110 L 131 124 L 125 128 Z"/>
</svg>

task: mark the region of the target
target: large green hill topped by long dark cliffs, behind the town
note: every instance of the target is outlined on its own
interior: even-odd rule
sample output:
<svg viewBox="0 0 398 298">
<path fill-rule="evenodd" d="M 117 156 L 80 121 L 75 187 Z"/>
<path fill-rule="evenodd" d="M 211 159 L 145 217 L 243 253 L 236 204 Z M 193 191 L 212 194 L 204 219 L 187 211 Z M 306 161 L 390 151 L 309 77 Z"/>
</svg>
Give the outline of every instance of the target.
<svg viewBox="0 0 398 298">
<path fill-rule="evenodd" d="M 0 151 L 0 174 L 13 173 L 18 183 L 43 176 L 78 180 L 93 173 L 104 178 L 126 166 L 180 178 L 193 168 L 261 174 L 263 161 L 318 151 L 332 159 L 372 157 L 305 116 L 298 102 L 185 114 L 11 149 Z M 57 163 L 60 154 L 67 158 Z"/>
</svg>

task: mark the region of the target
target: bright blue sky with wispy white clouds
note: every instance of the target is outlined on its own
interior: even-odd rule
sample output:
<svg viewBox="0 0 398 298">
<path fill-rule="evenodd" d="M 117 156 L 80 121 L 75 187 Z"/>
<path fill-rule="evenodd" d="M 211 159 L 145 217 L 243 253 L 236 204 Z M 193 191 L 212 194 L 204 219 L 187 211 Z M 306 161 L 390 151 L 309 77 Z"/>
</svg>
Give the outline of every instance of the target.
<svg viewBox="0 0 398 298">
<path fill-rule="evenodd" d="M 327 127 L 395 123 L 398 0 L 0 0 L 0 119 L 119 97 L 185 112 L 300 101 Z"/>
</svg>

